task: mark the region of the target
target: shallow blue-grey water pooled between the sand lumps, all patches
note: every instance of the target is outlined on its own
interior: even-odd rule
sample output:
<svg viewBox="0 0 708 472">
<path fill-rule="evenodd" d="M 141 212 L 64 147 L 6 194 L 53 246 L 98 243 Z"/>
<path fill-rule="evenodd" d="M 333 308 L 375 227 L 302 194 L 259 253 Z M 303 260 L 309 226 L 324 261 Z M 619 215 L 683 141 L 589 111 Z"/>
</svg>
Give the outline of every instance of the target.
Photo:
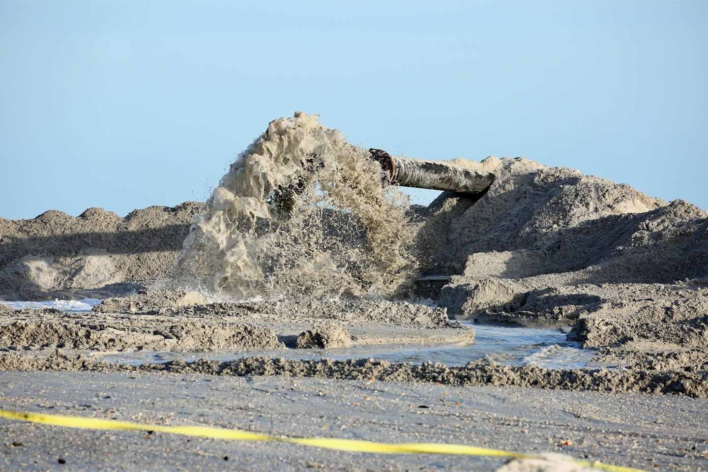
<svg viewBox="0 0 708 472">
<path fill-rule="evenodd" d="M 52 300 L 52 301 L 2 301 L 15 309 L 56 308 L 69 313 L 84 313 L 101 303 L 100 299 Z M 485 326 L 474 323 L 463 324 L 474 328 L 476 335 L 472 345 L 397 345 L 393 347 L 357 347 L 328 350 L 290 350 L 287 357 L 292 359 L 350 359 L 356 357 L 374 357 L 390 362 L 441 362 L 449 366 L 462 366 L 468 362 L 498 362 L 509 365 L 537 364 L 549 369 L 576 369 L 585 367 L 595 357 L 595 352 L 581 348 L 580 343 L 566 340 L 566 335 L 559 330 L 539 328 L 508 328 L 504 326 Z M 297 352 L 297 355 L 291 353 Z M 307 353 L 304 353 L 307 352 Z M 250 355 L 250 354 L 249 354 Z M 278 355 L 281 355 L 278 352 Z M 177 356 L 169 353 L 149 355 L 136 352 L 135 355 L 115 356 L 115 362 L 165 362 L 177 357 L 185 360 L 208 357 L 215 360 L 232 360 L 243 357 L 242 352 L 224 357 L 223 354 Z M 139 359 L 138 359 L 139 357 Z M 109 359 L 106 359 L 109 360 Z"/>
</svg>

